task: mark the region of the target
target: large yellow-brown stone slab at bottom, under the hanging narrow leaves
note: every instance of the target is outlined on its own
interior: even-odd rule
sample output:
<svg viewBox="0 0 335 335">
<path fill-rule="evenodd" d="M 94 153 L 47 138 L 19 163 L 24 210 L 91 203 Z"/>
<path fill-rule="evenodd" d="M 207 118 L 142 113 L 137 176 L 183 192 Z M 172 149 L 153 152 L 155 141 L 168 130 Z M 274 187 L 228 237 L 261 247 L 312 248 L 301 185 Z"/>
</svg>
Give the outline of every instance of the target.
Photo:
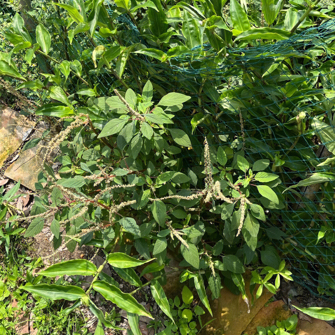
<svg viewBox="0 0 335 335">
<path fill-rule="evenodd" d="M 249 293 L 250 278 L 251 273 L 247 272 L 244 276 L 244 281 L 249 302 L 251 301 L 251 294 Z M 236 295 L 226 287 L 222 288 L 220 297 L 210 301 L 213 317 L 206 312 L 201 318 L 202 324 L 215 319 L 202 330 L 201 335 L 241 335 L 272 295 L 272 293 L 264 289 L 263 294 L 254 302 L 254 306 L 250 308 L 250 313 L 248 313 L 248 306 L 241 294 Z M 207 296 L 210 299 L 210 294 L 207 294 Z"/>
</svg>

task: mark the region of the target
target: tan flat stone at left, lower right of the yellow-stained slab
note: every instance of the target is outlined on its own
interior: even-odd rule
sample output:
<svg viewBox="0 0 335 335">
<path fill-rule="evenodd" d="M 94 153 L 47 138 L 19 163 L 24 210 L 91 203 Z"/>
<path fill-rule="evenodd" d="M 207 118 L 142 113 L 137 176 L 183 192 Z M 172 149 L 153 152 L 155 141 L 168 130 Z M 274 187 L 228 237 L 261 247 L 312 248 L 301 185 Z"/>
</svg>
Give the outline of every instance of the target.
<svg viewBox="0 0 335 335">
<path fill-rule="evenodd" d="M 44 130 L 38 130 L 32 138 L 40 137 Z M 4 175 L 15 181 L 20 180 L 21 185 L 35 191 L 35 183 L 37 183 L 37 176 L 42 170 L 47 143 L 47 140 L 41 140 L 37 146 L 21 152 L 18 159 L 7 167 Z"/>
</svg>

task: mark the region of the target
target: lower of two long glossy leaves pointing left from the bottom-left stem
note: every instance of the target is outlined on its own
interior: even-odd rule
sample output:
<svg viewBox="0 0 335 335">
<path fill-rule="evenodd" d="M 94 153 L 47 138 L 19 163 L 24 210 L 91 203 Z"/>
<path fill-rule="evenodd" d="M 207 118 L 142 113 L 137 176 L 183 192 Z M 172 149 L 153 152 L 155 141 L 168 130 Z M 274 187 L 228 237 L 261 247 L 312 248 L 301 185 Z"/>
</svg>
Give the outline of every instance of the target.
<svg viewBox="0 0 335 335">
<path fill-rule="evenodd" d="M 73 285 L 61 286 L 56 284 L 26 284 L 23 286 L 23 289 L 51 300 L 76 300 L 85 296 L 85 291 L 81 287 Z"/>
</svg>

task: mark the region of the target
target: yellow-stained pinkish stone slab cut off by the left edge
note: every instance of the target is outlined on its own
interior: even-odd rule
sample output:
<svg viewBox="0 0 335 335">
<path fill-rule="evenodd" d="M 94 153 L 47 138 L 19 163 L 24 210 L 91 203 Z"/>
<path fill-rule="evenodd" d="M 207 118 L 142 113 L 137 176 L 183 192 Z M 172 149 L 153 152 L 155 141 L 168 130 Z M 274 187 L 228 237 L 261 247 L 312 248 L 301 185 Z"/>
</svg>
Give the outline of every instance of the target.
<svg viewBox="0 0 335 335">
<path fill-rule="evenodd" d="M 35 122 L 13 109 L 0 106 L 0 167 L 29 136 Z"/>
</svg>

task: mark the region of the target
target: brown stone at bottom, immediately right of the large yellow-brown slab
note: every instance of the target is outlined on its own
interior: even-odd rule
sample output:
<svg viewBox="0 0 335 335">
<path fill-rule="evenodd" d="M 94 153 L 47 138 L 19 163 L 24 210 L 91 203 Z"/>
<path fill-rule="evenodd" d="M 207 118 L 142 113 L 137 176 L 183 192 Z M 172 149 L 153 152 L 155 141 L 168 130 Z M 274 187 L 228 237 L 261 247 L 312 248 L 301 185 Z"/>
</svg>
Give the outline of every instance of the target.
<svg viewBox="0 0 335 335">
<path fill-rule="evenodd" d="M 276 321 L 288 319 L 292 312 L 283 300 L 277 300 L 268 306 L 262 307 L 243 332 L 246 335 L 257 334 L 257 326 L 268 327 L 276 324 Z"/>
</svg>

